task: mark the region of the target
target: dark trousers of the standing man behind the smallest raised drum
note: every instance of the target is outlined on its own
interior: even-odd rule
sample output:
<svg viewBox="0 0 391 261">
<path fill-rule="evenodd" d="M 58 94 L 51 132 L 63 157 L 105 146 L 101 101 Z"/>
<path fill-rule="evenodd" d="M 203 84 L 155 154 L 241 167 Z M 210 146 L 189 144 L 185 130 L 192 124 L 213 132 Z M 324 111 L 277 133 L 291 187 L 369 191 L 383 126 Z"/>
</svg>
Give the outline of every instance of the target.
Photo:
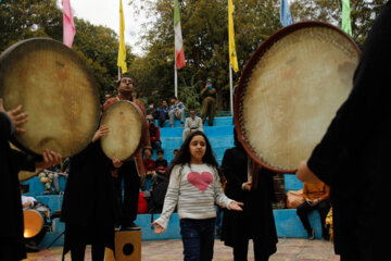
<svg viewBox="0 0 391 261">
<path fill-rule="evenodd" d="M 122 198 L 122 181 L 124 179 L 124 200 Z M 115 195 L 121 202 L 121 220 L 117 222 L 123 227 L 129 226 L 137 217 L 140 177 L 137 173 L 135 161 L 126 161 L 118 170 L 118 177 L 114 178 Z"/>
</svg>

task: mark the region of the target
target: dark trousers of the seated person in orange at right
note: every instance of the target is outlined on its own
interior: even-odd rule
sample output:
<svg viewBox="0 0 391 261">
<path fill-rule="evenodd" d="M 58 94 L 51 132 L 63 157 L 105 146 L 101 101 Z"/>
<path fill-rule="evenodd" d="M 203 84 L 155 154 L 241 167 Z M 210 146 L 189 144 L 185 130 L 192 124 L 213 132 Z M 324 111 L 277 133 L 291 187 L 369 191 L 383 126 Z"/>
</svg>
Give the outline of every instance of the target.
<svg viewBox="0 0 391 261">
<path fill-rule="evenodd" d="M 316 204 L 314 207 L 310 206 L 305 201 L 304 203 L 302 203 L 301 206 L 298 207 L 298 215 L 299 215 L 301 222 L 303 223 L 304 228 L 307 232 L 310 232 L 312 229 L 310 222 L 308 222 L 308 213 L 313 210 L 319 211 L 320 222 L 321 222 L 321 232 L 323 232 L 323 235 L 325 235 L 325 233 L 327 233 L 326 225 L 325 225 L 326 216 L 330 210 L 329 200 L 321 200 L 318 204 Z"/>
</svg>

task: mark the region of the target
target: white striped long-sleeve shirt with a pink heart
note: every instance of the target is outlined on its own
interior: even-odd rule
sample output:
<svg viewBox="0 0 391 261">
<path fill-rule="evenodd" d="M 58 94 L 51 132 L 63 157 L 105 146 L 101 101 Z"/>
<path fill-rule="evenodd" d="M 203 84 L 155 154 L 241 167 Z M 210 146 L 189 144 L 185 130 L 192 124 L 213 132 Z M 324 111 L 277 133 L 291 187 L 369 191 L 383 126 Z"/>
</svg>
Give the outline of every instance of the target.
<svg viewBox="0 0 391 261">
<path fill-rule="evenodd" d="M 163 212 L 155 222 L 166 228 L 177 204 L 179 219 L 215 217 L 215 202 L 223 208 L 232 202 L 223 192 L 217 170 L 207 164 L 178 164 L 172 171 Z"/>
</svg>

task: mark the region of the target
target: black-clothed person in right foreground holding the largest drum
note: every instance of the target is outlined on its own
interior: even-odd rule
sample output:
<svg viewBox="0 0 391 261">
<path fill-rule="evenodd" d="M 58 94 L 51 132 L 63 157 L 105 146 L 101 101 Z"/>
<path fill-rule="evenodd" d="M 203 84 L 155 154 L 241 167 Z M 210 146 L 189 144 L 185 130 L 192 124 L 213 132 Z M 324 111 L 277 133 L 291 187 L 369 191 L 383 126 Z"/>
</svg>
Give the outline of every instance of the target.
<svg viewBox="0 0 391 261">
<path fill-rule="evenodd" d="M 390 190 L 391 2 L 363 47 L 353 89 L 297 176 L 330 186 L 333 241 L 341 260 L 386 260 Z"/>
</svg>

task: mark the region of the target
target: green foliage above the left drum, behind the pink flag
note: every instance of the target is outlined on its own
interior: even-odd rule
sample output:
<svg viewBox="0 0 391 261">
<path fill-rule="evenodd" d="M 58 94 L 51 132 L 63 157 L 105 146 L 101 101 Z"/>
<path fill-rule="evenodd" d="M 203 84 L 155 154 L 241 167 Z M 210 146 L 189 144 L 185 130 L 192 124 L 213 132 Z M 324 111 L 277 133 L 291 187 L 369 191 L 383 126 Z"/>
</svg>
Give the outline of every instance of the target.
<svg viewBox="0 0 391 261">
<path fill-rule="evenodd" d="M 63 13 L 56 0 L 3 0 L 0 3 L 0 52 L 31 37 L 50 37 L 62 41 Z M 118 36 L 108 27 L 96 26 L 74 17 L 76 35 L 73 50 L 92 71 L 101 97 L 115 92 L 117 80 Z M 135 55 L 127 49 L 127 62 Z"/>
</svg>

